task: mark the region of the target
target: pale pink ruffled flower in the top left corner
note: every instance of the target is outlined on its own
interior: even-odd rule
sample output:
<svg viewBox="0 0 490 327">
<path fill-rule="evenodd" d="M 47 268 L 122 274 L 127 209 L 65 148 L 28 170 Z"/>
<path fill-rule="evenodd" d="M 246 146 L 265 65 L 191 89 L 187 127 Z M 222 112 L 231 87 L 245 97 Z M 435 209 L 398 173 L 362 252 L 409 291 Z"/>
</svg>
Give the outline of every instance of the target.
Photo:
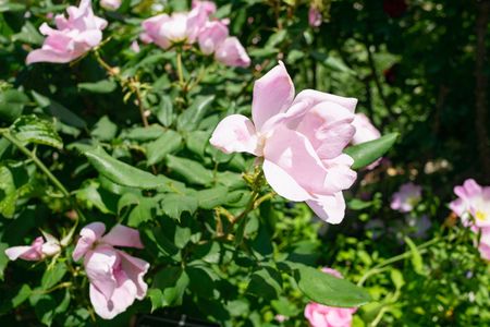
<svg viewBox="0 0 490 327">
<path fill-rule="evenodd" d="M 27 56 L 27 64 L 41 61 L 70 62 L 100 44 L 107 21 L 94 15 L 90 0 L 82 0 L 78 8 L 69 7 L 66 12 L 68 19 L 63 15 L 54 17 L 58 29 L 46 23 L 39 27 L 47 38 L 40 49 Z"/>
</svg>

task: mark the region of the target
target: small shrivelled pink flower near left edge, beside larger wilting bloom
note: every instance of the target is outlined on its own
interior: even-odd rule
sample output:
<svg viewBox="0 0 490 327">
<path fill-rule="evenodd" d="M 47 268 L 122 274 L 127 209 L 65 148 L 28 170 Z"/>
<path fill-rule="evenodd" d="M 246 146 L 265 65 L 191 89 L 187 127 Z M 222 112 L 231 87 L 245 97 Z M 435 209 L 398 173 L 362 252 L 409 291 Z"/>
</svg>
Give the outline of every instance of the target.
<svg viewBox="0 0 490 327">
<path fill-rule="evenodd" d="M 61 251 L 60 242 L 48 233 L 44 232 L 42 234 L 46 242 L 42 237 L 39 237 L 28 246 L 13 246 L 7 249 L 5 255 L 11 261 L 21 258 L 28 262 L 37 262 L 58 254 Z"/>
</svg>

